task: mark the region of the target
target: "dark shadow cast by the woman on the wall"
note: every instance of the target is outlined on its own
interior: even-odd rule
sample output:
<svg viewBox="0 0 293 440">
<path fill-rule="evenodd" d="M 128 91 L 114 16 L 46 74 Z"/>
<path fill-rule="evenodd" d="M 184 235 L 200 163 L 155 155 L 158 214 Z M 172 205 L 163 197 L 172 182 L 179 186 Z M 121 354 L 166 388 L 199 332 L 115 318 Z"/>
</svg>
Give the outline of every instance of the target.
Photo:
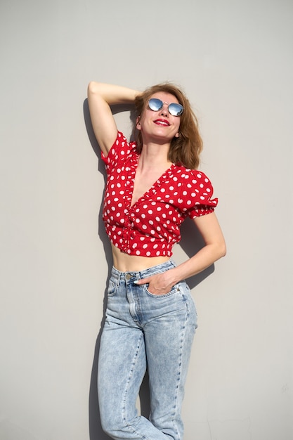
<svg viewBox="0 0 293 440">
<path fill-rule="evenodd" d="M 132 107 L 128 105 L 115 105 L 112 108 L 112 112 L 115 113 L 124 112 L 132 110 Z M 130 115 L 131 122 L 135 127 L 135 112 L 131 112 Z M 89 115 L 89 105 L 88 101 L 84 101 L 84 122 L 86 125 L 86 131 L 89 136 L 89 141 L 91 142 L 91 147 L 93 151 L 96 153 L 98 157 L 98 171 L 101 172 L 104 176 L 104 180 L 106 181 L 105 175 L 105 167 L 103 161 L 100 160 L 100 148 L 98 142 L 96 141 L 96 136 L 93 133 L 93 127 L 91 125 L 91 118 Z M 134 131 L 131 134 L 131 140 L 134 139 Z M 112 252 L 110 247 L 110 242 L 107 234 L 105 233 L 105 228 L 102 219 L 102 210 L 103 205 L 100 207 L 100 212 L 98 216 L 98 235 L 100 237 L 101 242 L 103 243 L 103 248 L 105 252 L 105 259 L 108 264 L 108 280 L 110 278 L 111 268 L 112 268 Z M 193 255 L 200 250 L 204 246 L 204 242 L 202 240 L 202 236 L 200 232 L 197 231 L 195 224 L 192 220 L 186 219 L 181 226 L 181 242 L 180 245 L 188 255 L 188 257 L 193 257 Z M 190 289 L 193 289 L 195 286 L 200 284 L 202 280 L 207 278 L 211 273 L 214 272 L 214 264 L 207 268 L 205 271 L 188 278 L 188 285 Z M 98 393 L 97 393 L 97 377 L 98 377 L 98 353 L 100 348 L 100 336 L 103 329 L 103 325 L 105 323 L 105 309 L 107 306 L 107 288 L 104 292 L 104 300 L 103 300 L 103 319 L 100 323 L 100 330 L 98 332 L 98 337 L 96 339 L 96 347 L 93 356 L 93 368 L 91 370 L 91 384 L 89 389 L 89 438 L 90 440 L 110 440 L 110 437 L 103 432 L 103 429 L 100 424 L 100 413 L 98 408 Z M 149 418 L 150 415 L 150 394 L 149 394 L 149 386 L 148 386 L 148 373 L 145 374 L 143 379 L 143 383 L 141 384 L 141 390 L 139 393 L 139 398 L 141 401 L 141 415 L 144 415 L 145 418 Z"/>
</svg>

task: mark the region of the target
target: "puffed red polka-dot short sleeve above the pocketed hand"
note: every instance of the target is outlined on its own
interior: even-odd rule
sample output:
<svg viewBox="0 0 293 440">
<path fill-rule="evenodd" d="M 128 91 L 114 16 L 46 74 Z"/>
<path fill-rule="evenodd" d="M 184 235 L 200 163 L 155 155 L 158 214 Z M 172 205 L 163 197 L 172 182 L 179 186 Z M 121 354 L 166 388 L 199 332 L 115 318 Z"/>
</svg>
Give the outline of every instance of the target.
<svg viewBox="0 0 293 440">
<path fill-rule="evenodd" d="M 185 214 L 190 219 L 195 219 L 214 212 L 218 199 L 212 198 L 213 193 L 214 188 L 209 178 L 203 172 L 191 170 L 190 179 L 185 179 L 181 190 Z"/>
</svg>

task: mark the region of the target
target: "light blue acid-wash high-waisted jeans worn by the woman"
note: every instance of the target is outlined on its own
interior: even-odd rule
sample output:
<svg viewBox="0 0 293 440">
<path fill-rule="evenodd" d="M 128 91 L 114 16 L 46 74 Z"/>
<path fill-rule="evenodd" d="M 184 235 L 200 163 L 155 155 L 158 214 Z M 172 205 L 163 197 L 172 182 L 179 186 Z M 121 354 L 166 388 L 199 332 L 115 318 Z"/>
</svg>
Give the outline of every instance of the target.
<svg viewBox="0 0 293 440">
<path fill-rule="evenodd" d="M 170 260 L 140 272 L 112 268 L 98 363 L 100 420 L 112 439 L 183 439 L 181 404 L 197 327 L 195 304 L 185 282 L 166 295 L 134 284 L 174 266 Z M 146 368 L 149 420 L 136 409 Z"/>
</svg>

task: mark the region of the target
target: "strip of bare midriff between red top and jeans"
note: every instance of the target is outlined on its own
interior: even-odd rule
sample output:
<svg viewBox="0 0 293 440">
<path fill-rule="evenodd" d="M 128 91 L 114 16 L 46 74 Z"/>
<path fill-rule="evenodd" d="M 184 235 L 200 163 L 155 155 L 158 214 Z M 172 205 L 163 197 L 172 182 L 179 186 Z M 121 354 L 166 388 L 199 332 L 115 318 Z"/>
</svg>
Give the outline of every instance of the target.
<svg viewBox="0 0 293 440">
<path fill-rule="evenodd" d="M 113 266 L 120 272 L 139 272 L 157 264 L 169 261 L 170 257 L 141 257 L 121 252 L 118 247 L 112 245 Z"/>
</svg>

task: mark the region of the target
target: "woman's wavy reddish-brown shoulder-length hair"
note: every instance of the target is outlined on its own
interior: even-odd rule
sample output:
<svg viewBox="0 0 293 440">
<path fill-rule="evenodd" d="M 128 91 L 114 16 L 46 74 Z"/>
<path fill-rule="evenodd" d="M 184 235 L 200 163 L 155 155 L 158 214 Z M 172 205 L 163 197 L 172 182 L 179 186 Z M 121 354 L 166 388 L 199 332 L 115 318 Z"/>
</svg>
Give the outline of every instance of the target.
<svg viewBox="0 0 293 440">
<path fill-rule="evenodd" d="M 198 131 L 197 117 L 190 106 L 188 98 L 186 98 L 178 86 L 166 82 L 145 89 L 141 95 L 136 96 L 135 105 L 138 115 L 141 115 L 145 108 L 147 108 L 150 97 L 159 91 L 176 96 L 178 102 L 181 103 L 184 108 L 180 117 L 179 136 L 171 140 L 168 159 L 174 164 L 196 169 L 200 164 L 202 138 Z M 138 131 L 136 138 L 136 150 L 138 153 L 141 153 L 142 148 L 143 138 L 141 131 Z"/>
</svg>

